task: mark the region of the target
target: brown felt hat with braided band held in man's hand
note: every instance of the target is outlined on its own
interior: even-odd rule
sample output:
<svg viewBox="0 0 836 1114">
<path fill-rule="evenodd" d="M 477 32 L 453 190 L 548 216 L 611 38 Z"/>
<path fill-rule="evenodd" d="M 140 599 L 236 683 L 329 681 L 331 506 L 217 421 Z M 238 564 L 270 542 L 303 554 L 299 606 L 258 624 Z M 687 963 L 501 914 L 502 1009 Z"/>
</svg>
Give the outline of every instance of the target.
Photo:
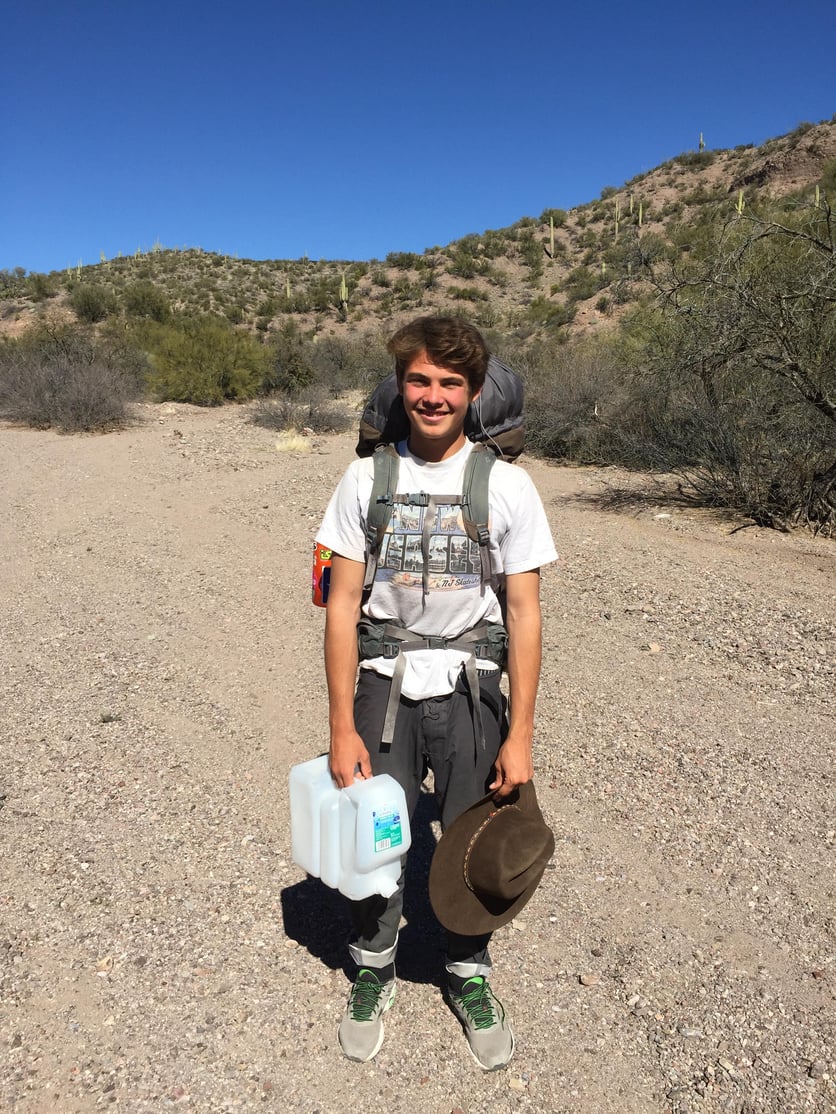
<svg viewBox="0 0 836 1114">
<path fill-rule="evenodd" d="M 507 925 L 536 890 L 554 853 L 554 836 L 526 782 L 497 803 L 473 804 L 438 841 L 429 899 L 445 928 L 478 936 Z"/>
</svg>

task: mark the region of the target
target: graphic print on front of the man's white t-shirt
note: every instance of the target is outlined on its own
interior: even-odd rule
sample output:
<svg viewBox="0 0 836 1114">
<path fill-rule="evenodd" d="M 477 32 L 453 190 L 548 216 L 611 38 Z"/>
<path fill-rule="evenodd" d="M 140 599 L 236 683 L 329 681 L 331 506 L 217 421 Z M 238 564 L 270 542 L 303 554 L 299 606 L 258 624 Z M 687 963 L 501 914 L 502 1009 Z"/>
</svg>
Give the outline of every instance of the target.
<svg viewBox="0 0 836 1114">
<path fill-rule="evenodd" d="M 430 590 L 457 592 L 461 588 L 478 587 L 479 547 L 465 532 L 461 508 L 447 502 L 438 504 L 435 508 L 396 504 L 380 548 L 378 579 L 388 580 L 398 587 L 421 590 L 424 573 L 421 539 L 427 516 L 430 516 L 428 531 Z"/>
</svg>

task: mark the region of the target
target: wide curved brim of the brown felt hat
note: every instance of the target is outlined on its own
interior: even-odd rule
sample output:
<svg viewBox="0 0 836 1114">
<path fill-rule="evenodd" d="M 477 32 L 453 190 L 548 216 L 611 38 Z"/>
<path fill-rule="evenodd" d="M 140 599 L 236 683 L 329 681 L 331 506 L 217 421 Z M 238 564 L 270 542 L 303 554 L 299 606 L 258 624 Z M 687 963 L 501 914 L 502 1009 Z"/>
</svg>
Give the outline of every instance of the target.
<svg viewBox="0 0 836 1114">
<path fill-rule="evenodd" d="M 519 786 L 516 803 L 535 811 L 542 820 L 533 782 Z M 505 805 L 495 801 L 493 793 L 483 797 L 453 821 L 436 846 L 429 868 L 429 900 L 438 920 L 451 932 L 480 936 L 507 925 L 528 902 L 552 858 L 554 837 L 550 832 L 551 840 L 543 854 L 526 872 L 526 886 L 522 893 L 513 900 L 475 893 L 465 881 L 465 849 L 483 822 L 499 807 Z"/>
</svg>

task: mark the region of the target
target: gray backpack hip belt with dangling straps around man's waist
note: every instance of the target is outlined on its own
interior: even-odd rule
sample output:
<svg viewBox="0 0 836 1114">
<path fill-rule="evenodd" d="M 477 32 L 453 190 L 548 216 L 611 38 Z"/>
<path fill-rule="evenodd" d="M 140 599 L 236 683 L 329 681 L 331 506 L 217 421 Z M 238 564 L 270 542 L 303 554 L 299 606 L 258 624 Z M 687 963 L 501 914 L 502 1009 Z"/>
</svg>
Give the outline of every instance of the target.
<svg viewBox="0 0 836 1114">
<path fill-rule="evenodd" d="M 395 672 L 389 687 L 389 701 L 386 705 L 386 717 L 380 742 L 391 746 L 395 739 L 395 721 L 398 716 L 401 685 L 407 667 L 406 654 L 415 649 L 460 649 L 467 654 L 464 661 L 465 677 L 470 690 L 473 706 L 474 734 L 485 746 L 485 729 L 482 722 L 479 701 L 478 663 L 492 662 L 499 668 L 505 664 L 508 646 L 508 633 L 502 623 L 478 623 L 453 638 L 435 635 L 420 635 L 407 631 L 395 623 L 378 623 L 373 619 L 361 619 L 357 625 L 357 641 L 360 659 L 372 657 L 395 658 Z"/>
</svg>

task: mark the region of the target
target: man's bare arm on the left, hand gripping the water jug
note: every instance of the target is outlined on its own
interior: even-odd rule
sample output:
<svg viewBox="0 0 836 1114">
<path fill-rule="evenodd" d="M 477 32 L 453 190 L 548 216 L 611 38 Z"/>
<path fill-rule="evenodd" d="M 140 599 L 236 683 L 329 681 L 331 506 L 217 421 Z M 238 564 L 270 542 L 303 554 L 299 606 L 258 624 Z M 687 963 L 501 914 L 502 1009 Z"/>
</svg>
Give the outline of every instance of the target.
<svg viewBox="0 0 836 1114">
<path fill-rule="evenodd" d="M 364 566 L 333 555 L 325 608 L 325 680 L 331 729 L 330 768 L 338 788 L 356 776 L 370 778 L 371 762 L 354 727 L 357 682 L 357 623 L 360 618 Z M 359 772 L 358 772 L 359 766 Z"/>
</svg>

